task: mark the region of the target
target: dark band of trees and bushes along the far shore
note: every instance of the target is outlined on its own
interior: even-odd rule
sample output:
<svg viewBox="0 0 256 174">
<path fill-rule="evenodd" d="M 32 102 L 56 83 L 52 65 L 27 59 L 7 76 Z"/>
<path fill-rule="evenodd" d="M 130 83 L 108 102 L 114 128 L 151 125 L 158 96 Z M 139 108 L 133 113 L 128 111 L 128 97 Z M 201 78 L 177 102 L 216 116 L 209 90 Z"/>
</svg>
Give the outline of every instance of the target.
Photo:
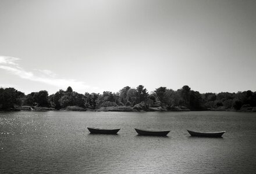
<svg viewBox="0 0 256 174">
<path fill-rule="evenodd" d="M 0 88 L 1 111 L 256 111 L 256 92 L 200 93 L 184 85 L 178 90 L 159 87 L 148 92 L 143 85 L 125 86 L 119 92 L 84 94 L 47 90 L 24 95 L 15 88 Z"/>
</svg>

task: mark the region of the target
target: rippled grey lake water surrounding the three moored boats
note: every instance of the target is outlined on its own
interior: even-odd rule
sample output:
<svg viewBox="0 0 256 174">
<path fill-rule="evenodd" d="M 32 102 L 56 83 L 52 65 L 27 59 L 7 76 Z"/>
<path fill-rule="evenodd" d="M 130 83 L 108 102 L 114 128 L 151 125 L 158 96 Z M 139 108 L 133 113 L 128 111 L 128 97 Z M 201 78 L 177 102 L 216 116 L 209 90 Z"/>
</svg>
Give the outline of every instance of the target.
<svg viewBox="0 0 256 174">
<path fill-rule="evenodd" d="M 89 127 L 121 128 L 91 135 Z M 134 128 L 171 130 L 138 136 Z M 191 137 L 226 131 L 222 138 Z M 256 173 L 256 113 L 0 113 L 0 173 Z"/>
</svg>

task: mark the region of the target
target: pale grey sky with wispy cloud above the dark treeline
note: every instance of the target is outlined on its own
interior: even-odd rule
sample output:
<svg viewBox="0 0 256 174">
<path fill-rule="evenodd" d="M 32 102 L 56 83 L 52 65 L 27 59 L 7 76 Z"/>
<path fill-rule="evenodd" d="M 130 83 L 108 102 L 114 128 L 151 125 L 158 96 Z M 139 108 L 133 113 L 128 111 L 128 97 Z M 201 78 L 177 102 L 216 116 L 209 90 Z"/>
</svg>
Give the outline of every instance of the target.
<svg viewBox="0 0 256 174">
<path fill-rule="evenodd" d="M 1 0 L 0 86 L 256 91 L 256 1 Z"/>
</svg>

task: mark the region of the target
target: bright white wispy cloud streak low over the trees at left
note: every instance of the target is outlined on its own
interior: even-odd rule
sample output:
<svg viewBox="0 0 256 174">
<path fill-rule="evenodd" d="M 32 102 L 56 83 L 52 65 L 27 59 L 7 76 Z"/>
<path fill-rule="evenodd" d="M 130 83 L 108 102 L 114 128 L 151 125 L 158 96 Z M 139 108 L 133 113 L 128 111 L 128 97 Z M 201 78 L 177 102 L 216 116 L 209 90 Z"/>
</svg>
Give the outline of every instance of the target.
<svg viewBox="0 0 256 174">
<path fill-rule="evenodd" d="M 97 89 L 97 87 L 91 87 L 86 85 L 85 82 L 77 81 L 76 79 L 56 78 L 57 75 L 51 70 L 34 69 L 35 71 L 39 71 L 41 73 L 39 75 L 31 71 L 26 71 L 19 65 L 19 63 L 17 63 L 19 60 L 20 59 L 16 57 L 0 56 L 0 68 L 8 71 L 11 74 L 17 75 L 20 78 L 35 82 L 42 82 L 44 84 L 57 86 L 62 89 L 67 88 L 67 86 L 72 86 L 72 88 L 76 90 Z"/>
</svg>

